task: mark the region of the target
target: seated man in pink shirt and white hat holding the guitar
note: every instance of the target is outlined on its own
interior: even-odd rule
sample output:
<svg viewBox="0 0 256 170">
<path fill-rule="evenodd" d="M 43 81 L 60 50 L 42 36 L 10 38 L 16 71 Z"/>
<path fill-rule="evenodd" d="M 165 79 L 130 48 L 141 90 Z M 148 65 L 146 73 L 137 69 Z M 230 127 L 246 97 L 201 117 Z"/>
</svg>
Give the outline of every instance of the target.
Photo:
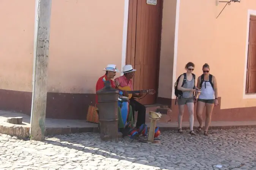
<svg viewBox="0 0 256 170">
<path fill-rule="evenodd" d="M 131 79 L 133 79 L 134 71 L 132 65 L 125 65 L 123 66 L 123 76 L 117 77 L 115 79 L 115 82 L 117 82 L 119 87 L 130 87 L 131 91 L 133 91 L 133 82 Z M 123 90 L 122 90 L 123 91 Z M 128 96 L 126 91 L 123 91 L 124 96 Z M 137 102 L 137 100 L 134 99 L 134 97 L 142 97 L 143 93 L 140 91 L 139 94 L 132 94 L 132 97 L 130 99 L 130 105 L 133 108 L 133 120 L 134 120 L 134 111 L 138 111 L 138 117 L 137 117 L 137 123 L 136 128 L 141 127 L 141 125 L 145 124 L 145 115 L 146 115 L 146 108 L 141 103 Z"/>
</svg>

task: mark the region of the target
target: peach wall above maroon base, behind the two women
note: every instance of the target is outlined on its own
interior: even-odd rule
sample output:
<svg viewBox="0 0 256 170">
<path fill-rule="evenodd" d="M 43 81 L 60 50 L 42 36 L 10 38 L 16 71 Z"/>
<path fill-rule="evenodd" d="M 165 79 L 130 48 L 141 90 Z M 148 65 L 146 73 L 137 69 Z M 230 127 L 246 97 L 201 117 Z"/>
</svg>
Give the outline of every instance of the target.
<svg viewBox="0 0 256 170">
<path fill-rule="evenodd" d="M 225 3 L 215 4 L 215 0 L 181 0 L 175 76 L 190 61 L 199 76 L 202 65 L 208 63 L 218 80 L 221 109 L 256 106 L 256 99 L 243 99 L 247 13 L 256 10 L 256 1 L 231 3 L 218 19 Z"/>
</svg>

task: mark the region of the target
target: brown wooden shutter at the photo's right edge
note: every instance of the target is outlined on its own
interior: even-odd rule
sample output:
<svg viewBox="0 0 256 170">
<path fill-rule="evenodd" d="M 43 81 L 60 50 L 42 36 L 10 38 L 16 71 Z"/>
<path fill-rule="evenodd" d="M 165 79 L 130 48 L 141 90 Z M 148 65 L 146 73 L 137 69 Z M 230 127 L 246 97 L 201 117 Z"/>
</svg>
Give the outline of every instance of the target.
<svg viewBox="0 0 256 170">
<path fill-rule="evenodd" d="M 256 17 L 250 17 L 247 93 L 256 93 Z"/>
</svg>

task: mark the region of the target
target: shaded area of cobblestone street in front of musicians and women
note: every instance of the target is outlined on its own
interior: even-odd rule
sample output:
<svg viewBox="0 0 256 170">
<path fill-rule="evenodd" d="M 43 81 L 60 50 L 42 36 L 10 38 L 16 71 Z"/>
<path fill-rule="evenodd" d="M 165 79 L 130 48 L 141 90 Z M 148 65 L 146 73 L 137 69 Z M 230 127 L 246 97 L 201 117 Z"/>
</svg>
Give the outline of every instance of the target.
<svg viewBox="0 0 256 170">
<path fill-rule="evenodd" d="M 88 165 L 94 166 L 95 159 L 90 157 L 100 157 L 99 164 L 123 166 L 120 169 L 216 169 L 216 165 L 222 165 L 223 170 L 256 169 L 254 132 L 254 128 L 235 128 L 211 130 L 210 136 L 191 136 L 189 130 L 183 134 L 166 131 L 160 136 L 160 144 L 131 142 L 129 138 L 105 142 L 99 133 L 49 136 L 44 142 L 69 148 L 69 152 L 86 153 Z M 79 156 L 73 160 L 84 161 Z"/>
</svg>

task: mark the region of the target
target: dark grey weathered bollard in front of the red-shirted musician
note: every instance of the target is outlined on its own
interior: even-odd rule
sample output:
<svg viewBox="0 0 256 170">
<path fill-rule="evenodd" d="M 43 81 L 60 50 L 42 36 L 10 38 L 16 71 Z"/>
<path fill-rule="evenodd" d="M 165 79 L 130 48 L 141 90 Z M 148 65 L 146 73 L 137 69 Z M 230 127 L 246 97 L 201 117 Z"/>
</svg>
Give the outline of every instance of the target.
<svg viewBox="0 0 256 170">
<path fill-rule="evenodd" d="M 117 141 L 118 133 L 118 95 L 110 81 L 104 82 L 104 88 L 98 90 L 98 109 L 100 122 L 100 138 L 104 141 Z"/>
</svg>

